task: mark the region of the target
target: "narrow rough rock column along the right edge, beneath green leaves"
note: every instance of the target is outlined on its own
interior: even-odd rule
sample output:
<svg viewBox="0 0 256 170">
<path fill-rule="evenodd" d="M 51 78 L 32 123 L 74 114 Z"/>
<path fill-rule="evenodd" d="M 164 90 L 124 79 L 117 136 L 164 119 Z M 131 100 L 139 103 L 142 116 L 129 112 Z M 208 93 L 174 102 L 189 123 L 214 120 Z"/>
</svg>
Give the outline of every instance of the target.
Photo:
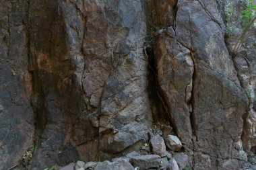
<svg viewBox="0 0 256 170">
<path fill-rule="evenodd" d="M 227 4 L 224 3 L 220 3 L 220 5 L 223 6 L 223 8 L 227 8 L 222 11 L 224 17 L 226 17 L 226 15 L 230 15 L 230 7 L 239 6 L 234 13 L 231 13 L 228 19 L 225 19 L 226 27 L 230 28 L 226 30 L 225 43 L 230 52 L 230 56 L 232 57 L 232 65 L 236 69 L 239 84 L 243 88 L 243 91 L 245 91 L 248 99 L 247 110 L 242 117 L 243 133 L 241 134 L 241 139 L 243 141 L 244 151 L 249 152 L 253 150 L 253 146 L 256 146 L 256 143 L 254 142 L 256 113 L 255 110 L 253 110 L 255 80 L 253 80 L 253 69 L 251 69 L 251 65 L 249 63 L 249 60 L 251 63 L 255 63 L 255 59 L 250 56 L 250 53 L 252 56 L 255 56 L 255 54 L 253 55 L 253 53 L 250 52 L 250 49 L 253 49 L 253 46 L 247 46 L 246 44 L 252 44 L 251 41 L 255 40 L 255 38 L 253 38 L 253 36 L 255 36 L 255 28 L 252 28 L 247 32 L 250 36 L 248 36 L 249 38 L 243 42 L 243 46 L 241 47 L 241 50 L 244 49 L 243 52 L 238 52 L 238 54 L 235 55 L 234 52 L 232 52 L 232 49 L 234 48 L 233 46 L 237 42 L 236 38 L 243 33 L 241 22 L 235 21 L 241 21 L 240 16 L 243 15 L 242 10 L 244 10 L 245 3 L 242 1 L 232 1 L 232 3 L 229 3 L 229 6 L 226 6 Z"/>
</svg>

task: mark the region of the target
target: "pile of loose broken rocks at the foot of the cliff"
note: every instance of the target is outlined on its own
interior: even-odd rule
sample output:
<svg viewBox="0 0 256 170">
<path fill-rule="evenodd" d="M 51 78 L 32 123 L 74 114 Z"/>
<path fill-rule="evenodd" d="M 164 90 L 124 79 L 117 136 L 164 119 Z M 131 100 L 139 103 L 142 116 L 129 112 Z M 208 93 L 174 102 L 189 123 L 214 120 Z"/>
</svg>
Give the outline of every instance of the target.
<svg viewBox="0 0 256 170">
<path fill-rule="evenodd" d="M 112 161 L 87 163 L 77 161 L 77 163 L 70 163 L 65 167 L 55 168 L 61 170 L 189 170 L 189 157 L 185 153 L 178 153 L 181 151 L 182 144 L 179 138 L 172 135 L 171 132 L 169 126 L 150 132 L 150 141 L 142 146 L 141 151 L 133 151 L 123 157 L 112 159 Z"/>
</svg>

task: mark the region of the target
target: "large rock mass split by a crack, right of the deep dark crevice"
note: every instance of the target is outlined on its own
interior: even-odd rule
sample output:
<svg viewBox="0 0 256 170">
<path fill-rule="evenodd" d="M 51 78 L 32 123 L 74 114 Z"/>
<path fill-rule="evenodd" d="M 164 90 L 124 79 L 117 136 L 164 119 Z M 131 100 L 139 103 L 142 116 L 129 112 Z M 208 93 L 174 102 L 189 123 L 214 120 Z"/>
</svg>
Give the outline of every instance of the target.
<svg viewBox="0 0 256 170">
<path fill-rule="evenodd" d="M 224 161 L 220 160 L 234 159 L 234 142 L 241 139 L 243 127 L 243 142 L 253 143 L 255 116 L 247 113 L 252 124 L 243 120 L 249 109 L 247 89 L 230 65 L 234 62 L 216 2 L 181 0 L 178 6 L 175 29 L 163 32 L 154 46 L 158 82 L 176 133 L 186 153 L 196 160 L 193 168 L 221 169 Z M 212 18 L 214 22 L 207 22 Z"/>
</svg>

